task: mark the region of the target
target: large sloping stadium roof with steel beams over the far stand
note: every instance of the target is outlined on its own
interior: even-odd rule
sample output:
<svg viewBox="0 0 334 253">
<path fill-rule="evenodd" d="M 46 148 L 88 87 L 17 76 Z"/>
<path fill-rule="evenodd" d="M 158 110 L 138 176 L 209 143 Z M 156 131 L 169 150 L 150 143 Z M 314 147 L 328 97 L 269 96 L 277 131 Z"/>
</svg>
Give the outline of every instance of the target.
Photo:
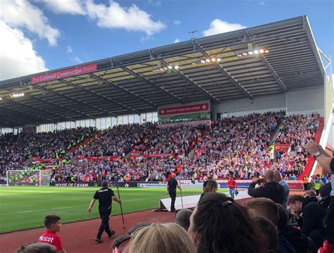
<svg viewBox="0 0 334 253">
<path fill-rule="evenodd" d="M 240 56 L 260 48 L 270 52 Z M 201 63 L 206 58 L 221 61 Z M 96 70 L 32 82 L 36 75 L 87 64 Z M 302 16 L 1 81 L 0 126 L 144 113 L 166 104 L 219 103 L 321 86 L 323 65 Z M 11 97 L 20 92 L 25 96 Z"/>
</svg>

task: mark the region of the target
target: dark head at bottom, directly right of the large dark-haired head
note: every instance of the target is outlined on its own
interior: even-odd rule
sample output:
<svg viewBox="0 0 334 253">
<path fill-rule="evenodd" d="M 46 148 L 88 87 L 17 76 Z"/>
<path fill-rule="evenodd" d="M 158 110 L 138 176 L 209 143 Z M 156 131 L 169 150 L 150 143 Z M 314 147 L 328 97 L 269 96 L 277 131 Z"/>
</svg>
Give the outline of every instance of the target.
<svg viewBox="0 0 334 253">
<path fill-rule="evenodd" d="M 264 217 L 255 217 L 254 221 L 259 226 L 262 237 L 266 238 L 266 252 L 276 253 L 278 250 L 278 231 L 276 226 Z"/>
</svg>

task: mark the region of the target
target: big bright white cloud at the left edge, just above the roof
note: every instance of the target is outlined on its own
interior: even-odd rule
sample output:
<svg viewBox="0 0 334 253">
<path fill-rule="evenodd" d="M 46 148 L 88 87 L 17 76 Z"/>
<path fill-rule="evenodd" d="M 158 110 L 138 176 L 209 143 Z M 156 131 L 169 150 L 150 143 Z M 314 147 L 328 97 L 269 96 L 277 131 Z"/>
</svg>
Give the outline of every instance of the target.
<svg viewBox="0 0 334 253">
<path fill-rule="evenodd" d="M 0 34 L 0 80 L 48 70 L 43 58 L 37 54 L 23 32 L 0 20 Z"/>
</svg>

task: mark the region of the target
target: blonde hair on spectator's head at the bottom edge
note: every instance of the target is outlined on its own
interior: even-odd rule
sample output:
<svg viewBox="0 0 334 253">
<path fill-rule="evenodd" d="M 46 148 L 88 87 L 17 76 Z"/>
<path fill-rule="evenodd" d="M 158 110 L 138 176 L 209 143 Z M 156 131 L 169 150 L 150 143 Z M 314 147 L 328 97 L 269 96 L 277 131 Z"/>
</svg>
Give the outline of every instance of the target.
<svg viewBox="0 0 334 253">
<path fill-rule="evenodd" d="M 131 236 L 128 253 L 197 253 L 185 230 L 175 223 L 154 223 Z"/>
</svg>

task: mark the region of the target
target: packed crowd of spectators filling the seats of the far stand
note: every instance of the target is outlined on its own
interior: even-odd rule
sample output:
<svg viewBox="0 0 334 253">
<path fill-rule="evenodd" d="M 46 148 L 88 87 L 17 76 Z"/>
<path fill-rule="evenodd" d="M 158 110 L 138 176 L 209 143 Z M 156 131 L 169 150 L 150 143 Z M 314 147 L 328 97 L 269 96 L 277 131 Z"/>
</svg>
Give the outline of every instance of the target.
<svg viewBox="0 0 334 253">
<path fill-rule="evenodd" d="M 285 112 L 278 111 L 225 118 L 209 127 L 177 125 L 159 128 L 154 123 L 135 123 L 114 126 L 101 136 L 92 128 L 19 135 L 14 141 L 5 142 L 0 149 L 4 156 L 1 175 L 4 176 L 6 169 L 31 168 L 31 164 L 23 164 L 28 157 L 60 157 L 68 154 L 66 151 L 70 147 L 78 145 L 80 147 L 70 153 L 70 157 L 81 154 L 85 158 L 119 156 L 119 159 L 68 159 L 66 163 L 57 160 L 53 164 L 56 181 L 59 178 L 103 180 L 106 173 L 120 180 L 142 181 L 164 181 L 171 173 L 193 180 L 225 179 L 228 176 L 252 179 L 263 175 L 273 162 L 284 178 L 293 180 L 307 164 L 305 145 L 314 139 L 317 128 L 316 114 L 285 117 Z M 273 157 L 271 142 L 276 132 L 276 143 L 291 144 L 291 148 L 289 152 L 278 152 L 278 156 Z M 82 138 L 89 135 L 92 139 L 82 144 Z"/>
</svg>

